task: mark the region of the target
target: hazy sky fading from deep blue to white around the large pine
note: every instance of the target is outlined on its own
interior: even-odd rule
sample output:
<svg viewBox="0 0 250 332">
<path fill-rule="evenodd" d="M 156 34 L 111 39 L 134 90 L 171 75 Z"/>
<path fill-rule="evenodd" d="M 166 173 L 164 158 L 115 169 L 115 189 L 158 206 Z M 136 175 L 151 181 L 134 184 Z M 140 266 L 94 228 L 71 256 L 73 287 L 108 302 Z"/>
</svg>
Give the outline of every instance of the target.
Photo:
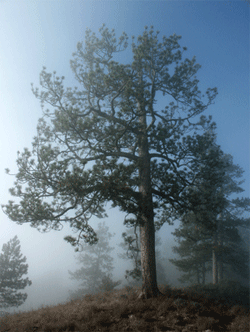
<svg viewBox="0 0 250 332">
<path fill-rule="evenodd" d="M 202 66 L 197 74 L 200 90 L 218 88 L 215 103 L 204 115 L 212 115 L 217 124 L 217 143 L 233 156 L 234 164 L 244 169 L 241 186 L 245 191 L 241 196 L 249 197 L 249 13 L 250 2 L 244 0 L 0 0 L 0 204 L 13 199 L 9 188 L 15 178 L 7 175 L 5 168 L 11 174 L 17 172 L 17 151 L 31 148 L 42 116 L 31 83 L 39 87 L 39 74 L 45 66 L 48 72 L 55 70 L 58 76 L 65 76 L 65 86 L 77 85 L 70 68 L 72 53 L 79 41 L 84 42 L 87 28 L 98 34 L 103 23 L 114 28 L 117 37 L 125 31 L 129 47 L 131 36 L 142 34 L 146 25 L 160 31 L 159 39 L 174 33 L 182 36 L 180 45 L 188 49 L 184 58 L 196 56 Z M 109 232 L 116 234 L 110 241 L 114 247 L 122 242 L 121 234 L 126 231 L 124 214 L 117 209 L 108 209 L 107 213 L 109 217 L 104 220 L 93 218 L 91 226 L 97 229 L 97 224 L 105 221 Z M 0 250 L 17 235 L 29 265 L 24 277 L 32 281 L 23 291 L 28 294 L 26 302 L 15 310 L 66 301 L 68 290 L 79 285 L 68 273 L 80 268 L 75 258 L 78 254 L 63 239 L 74 236 L 73 230 L 64 225 L 62 231 L 40 233 L 29 224 L 9 220 L 1 209 L 0 225 Z M 178 226 L 178 222 L 174 226 L 165 224 L 159 232 L 165 259 L 176 257 L 171 249 L 175 245 L 171 232 Z M 131 268 L 117 258 L 118 252 L 122 250 L 115 250 L 114 280 L 124 279 L 125 270 Z M 174 284 L 177 276 L 169 264 L 167 279 Z"/>
</svg>

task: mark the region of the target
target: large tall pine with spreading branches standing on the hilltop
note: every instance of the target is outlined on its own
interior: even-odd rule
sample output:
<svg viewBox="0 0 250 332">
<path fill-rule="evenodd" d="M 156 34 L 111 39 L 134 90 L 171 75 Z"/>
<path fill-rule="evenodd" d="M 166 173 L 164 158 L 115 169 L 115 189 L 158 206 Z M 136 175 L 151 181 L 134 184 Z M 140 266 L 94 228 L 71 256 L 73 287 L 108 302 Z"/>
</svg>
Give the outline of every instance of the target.
<svg viewBox="0 0 250 332">
<path fill-rule="evenodd" d="M 53 110 L 39 120 L 32 151 L 24 149 L 17 159 L 10 192 L 20 202 L 9 201 L 3 209 L 11 220 L 43 225 L 44 231 L 69 222 L 80 234 L 65 240 L 76 246 L 83 232 L 86 242 L 96 243 L 88 221 L 106 216 L 105 204 L 112 202 L 140 226 L 140 297 L 155 297 L 160 295 L 155 225 L 173 222 L 176 209 L 186 209 L 185 167 L 193 158 L 188 147 L 196 130 L 213 126 L 211 118 L 195 117 L 213 102 L 217 89 L 207 89 L 208 100 L 202 101 L 195 76 L 200 65 L 195 57 L 180 62 L 186 50 L 180 36 L 159 42 L 159 32 L 145 27 L 137 44 L 132 41 L 132 63 L 120 64 L 115 56 L 126 49 L 127 35 L 117 41 L 114 30 L 103 25 L 99 31 L 100 39 L 87 30 L 85 48 L 78 43 L 73 54 L 80 89 L 65 90 L 64 77 L 42 70 L 43 91 L 33 92 L 42 107 L 46 103 Z M 160 95 L 164 109 L 156 107 Z"/>
</svg>

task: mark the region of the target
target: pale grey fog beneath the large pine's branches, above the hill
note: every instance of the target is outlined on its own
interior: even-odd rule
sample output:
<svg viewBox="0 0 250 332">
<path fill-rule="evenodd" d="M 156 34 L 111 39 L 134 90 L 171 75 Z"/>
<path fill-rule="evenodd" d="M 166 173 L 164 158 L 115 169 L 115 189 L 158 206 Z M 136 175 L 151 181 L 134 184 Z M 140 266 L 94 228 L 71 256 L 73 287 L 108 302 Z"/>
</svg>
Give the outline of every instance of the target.
<svg viewBox="0 0 250 332">
<path fill-rule="evenodd" d="M 131 260 L 126 261 L 118 257 L 118 254 L 125 253 L 118 245 L 122 242 L 122 232 L 128 231 L 128 228 L 123 225 L 124 214 L 119 212 L 118 209 L 108 210 L 108 215 L 109 218 L 96 218 L 90 224 L 97 230 L 98 223 L 105 221 L 105 226 L 109 227 L 109 232 L 116 233 L 110 240 L 109 245 L 115 248 L 111 254 L 114 258 L 113 280 L 121 280 L 122 284 L 118 287 L 121 288 L 123 285 L 128 285 L 124 277 L 126 269 L 133 268 Z M 10 223 L 10 221 L 1 222 L 1 226 L 10 229 Z M 156 233 L 161 236 L 161 251 L 165 252 L 165 259 L 177 257 L 171 249 L 175 245 L 173 236 L 168 235 L 170 231 L 174 231 L 175 227 L 164 225 L 160 232 Z M 39 233 L 28 225 L 11 225 L 11 231 L 1 236 L 1 242 L 4 243 L 7 243 L 15 235 L 18 236 L 21 246 L 20 251 L 27 258 L 25 264 L 29 265 L 28 274 L 24 275 L 23 278 L 28 276 L 32 281 L 31 286 L 27 286 L 21 291 L 28 295 L 24 304 L 18 308 L 3 310 L 8 312 L 26 311 L 40 308 L 42 305 L 50 306 L 67 302 L 70 295 L 69 290 L 75 291 L 81 288 L 81 281 L 70 280 L 68 270 L 75 272 L 82 267 L 76 257 L 77 255 L 84 255 L 84 251 L 76 253 L 74 248 L 64 241 L 63 237 L 70 234 L 75 234 L 70 227 L 64 227 L 62 231 L 51 230 L 48 233 Z M 176 271 L 176 268 L 170 262 L 168 266 L 170 267 L 166 271 L 168 281 L 175 286 L 181 285 L 177 280 L 181 274 Z"/>
</svg>

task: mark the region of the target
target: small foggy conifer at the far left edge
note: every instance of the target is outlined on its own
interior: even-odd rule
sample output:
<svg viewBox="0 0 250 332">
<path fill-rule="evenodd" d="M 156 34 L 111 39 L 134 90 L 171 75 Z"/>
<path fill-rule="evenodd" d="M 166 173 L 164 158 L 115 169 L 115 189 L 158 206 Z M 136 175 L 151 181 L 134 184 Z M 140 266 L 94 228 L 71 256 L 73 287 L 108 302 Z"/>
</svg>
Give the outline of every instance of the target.
<svg viewBox="0 0 250 332">
<path fill-rule="evenodd" d="M 26 257 L 22 258 L 19 243 L 20 241 L 15 236 L 2 247 L 3 253 L 0 255 L 0 308 L 22 305 L 28 295 L 17 293 L 17 290 L 32 284 L 28 278 L 20 279 L 28 273 L 28 264 L 22 264 L 26 262 Z"/>
</svg>

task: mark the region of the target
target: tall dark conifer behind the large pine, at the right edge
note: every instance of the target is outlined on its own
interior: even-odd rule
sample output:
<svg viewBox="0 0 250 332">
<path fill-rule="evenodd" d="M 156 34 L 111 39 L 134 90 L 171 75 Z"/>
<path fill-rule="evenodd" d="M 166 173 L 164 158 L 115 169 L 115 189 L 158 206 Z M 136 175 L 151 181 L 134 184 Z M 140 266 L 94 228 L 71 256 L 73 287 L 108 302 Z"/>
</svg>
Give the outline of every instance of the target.
<svg viewBox="0 0 250 332">
<path fill-rule="evenodd" d="M 216 146 L 214 134 L 208 134 L 206 143 L 197 145 L 195 149 L 200 153 L 200 161 L 192 166 L 197 176 L 189 188 L 190 204 L 195 212 L 185 213 L 182 229 L 173 233 L 184 238 L 174 251 L 186 258 L 171 262 L 188 272 L 180 281 L 188 281 L 195 276 L 199 283 L 201 276 L 202 283 L 205 283 L 206 272 L 212 271 L 213 283 L 216 284 L 225 277 L 224 273 L 230 276 L 229 267 L 248 278 L 248 253 L 242 247 L 237 227 L 249 228 L 249 218 L 241 218 L 241 215 L 249 211 L 250 200 L 230 199 L 232 194 L 243 191 L 240 187 L 243 181 L 236 180 L 242 177 L 243 170 L 233 164 L 230 155 L 223 154 Z M 213 231 L 206 229 L 209 218 L 217 224 Z"/>
</svg>

